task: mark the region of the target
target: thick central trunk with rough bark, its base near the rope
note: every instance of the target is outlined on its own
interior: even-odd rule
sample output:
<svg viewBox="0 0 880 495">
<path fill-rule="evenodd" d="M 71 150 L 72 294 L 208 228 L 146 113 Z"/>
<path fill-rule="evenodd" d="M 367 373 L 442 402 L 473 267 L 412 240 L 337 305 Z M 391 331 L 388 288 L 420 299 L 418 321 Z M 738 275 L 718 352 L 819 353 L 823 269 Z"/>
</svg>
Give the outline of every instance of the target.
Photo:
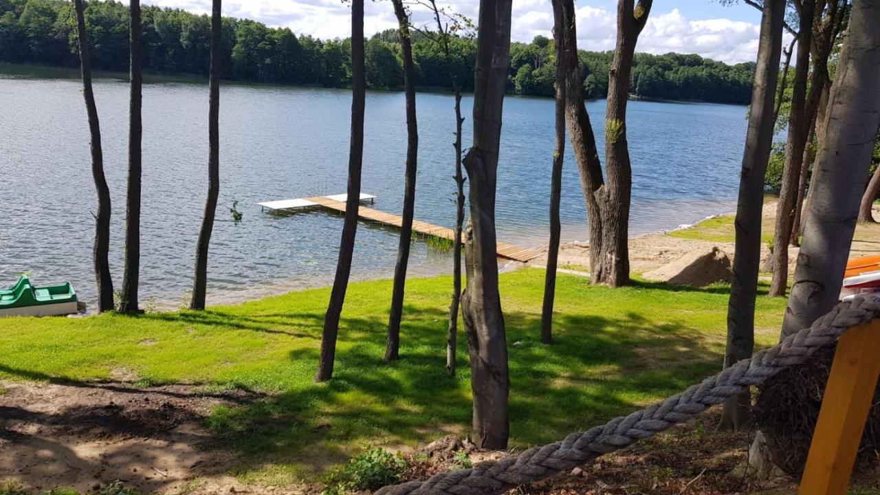
<svg viewBox="0 0 880 495">
<path fill-rule="evenodd" d="M 473 146 L 464 159 L 471 184 L 471 220 L 466 234 L 467 288 L 461 305 L 471 355 L 473 438 L 479 447 L 492 449 L 506 448 L 510 433 L 507 340 L 495 254 L 495 185 L 510 63 L 511 8 L 512 0 L 480 0 Z"/>
</svg>

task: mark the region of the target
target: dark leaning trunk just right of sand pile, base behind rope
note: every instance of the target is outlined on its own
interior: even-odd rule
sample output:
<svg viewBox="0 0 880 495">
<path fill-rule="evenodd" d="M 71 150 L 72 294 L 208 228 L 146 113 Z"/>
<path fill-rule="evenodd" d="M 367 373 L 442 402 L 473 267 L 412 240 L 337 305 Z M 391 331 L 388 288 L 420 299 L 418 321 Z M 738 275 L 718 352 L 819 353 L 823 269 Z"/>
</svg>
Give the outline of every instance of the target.
<svg viewBox="0 0 880 495">
<path fill-rule="evenodd" d="M 755 298 L 761 257 L 761 214 L 764 174 L 773 147 L 774 100 L 779 75 L 785 0 L 766 0 L 761 17 L 758 62 L 745 136 L 743 168 L 737 200 L 736 256 L 727 310 L 727 351 L 724 367 L 752 357 L 755 346 Z M 749 421 L 751 394 L 745 392 L 724 403 L 722 428 L 739 429 Z"/>
</svg>

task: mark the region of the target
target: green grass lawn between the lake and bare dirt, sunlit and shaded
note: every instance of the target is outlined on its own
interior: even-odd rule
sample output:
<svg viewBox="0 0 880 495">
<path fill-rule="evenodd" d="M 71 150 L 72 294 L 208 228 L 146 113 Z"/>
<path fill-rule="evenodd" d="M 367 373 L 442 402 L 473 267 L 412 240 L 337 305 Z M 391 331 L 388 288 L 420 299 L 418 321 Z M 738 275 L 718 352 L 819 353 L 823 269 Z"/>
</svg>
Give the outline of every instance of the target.
<svg viewBox="0 0 880 495">
<path fill-rule="evenodd" d="M 674 394 L 721 369 L 728 288 L 635 283 L 609 289 L 561 275 L 553 345 L 539 343 L 543 270 L 501 277 L 510 349 L 510 432 L 524 447 L 559 440 Z M 0 319 L 0 378 L 187 382 L 246 388 L 264 401 L 221 408 L 209 425 L 261 483 L 311 477 L 366 445 L 414 446 L 465 433 L 466 339 L 447 375 L 451 277 L 407 282 L 398 363 L 382 361 L 390 280 L 351 284 L 334 380 L 312 381 L 329 290 L 204 313 Z M 774 344 L 785 299 L 759 296 L 759 346 Z"/>
</svg>

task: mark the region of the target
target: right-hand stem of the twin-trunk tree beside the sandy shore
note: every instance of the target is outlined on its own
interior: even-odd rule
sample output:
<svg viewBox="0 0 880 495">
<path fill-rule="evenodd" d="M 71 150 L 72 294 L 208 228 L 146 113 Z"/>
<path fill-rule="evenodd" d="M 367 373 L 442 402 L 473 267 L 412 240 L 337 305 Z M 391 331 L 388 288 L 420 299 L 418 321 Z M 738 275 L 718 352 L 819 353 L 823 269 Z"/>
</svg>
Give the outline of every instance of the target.
<svg viewBox="0 0 880 495">
<path fill-rule="evenodd" d="M 633 171 L 627 145 L 627 100 L 635 43 L 648 21 L 652 0 L 618 0 L 617 44 L 608 71 L 605 108 L 605 170 L 608 180 L 599 188 L 602 244 L 598 266 L 590 267 L 594 281 L 620 287 L 629 284 L 629 207 Z M 590 244 L 590 250 L 593 246 Z"/>
</svg>

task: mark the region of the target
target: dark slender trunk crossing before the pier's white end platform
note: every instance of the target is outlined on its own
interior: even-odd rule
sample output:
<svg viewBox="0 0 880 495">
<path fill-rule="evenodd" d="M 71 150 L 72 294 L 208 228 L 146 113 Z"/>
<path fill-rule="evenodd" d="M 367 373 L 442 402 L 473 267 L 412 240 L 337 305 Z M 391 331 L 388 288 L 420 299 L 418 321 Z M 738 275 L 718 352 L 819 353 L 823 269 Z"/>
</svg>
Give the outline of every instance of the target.
<svg viewBox="0 0 880 495">
<path fill-rule="evenodd" d="M 361 166 L 363 164 L 363 111 L 366 106 L 367 81 L 363 57 L 363 0 L 351 2 L 351 139 L 348 148 L 348 197 L 345 204 L 345 219 L 339 246 L 339 260 L 336 262 L 336 277 L 330 302 L 324 316 L 324 335 L 321 337 L 321 355 L 315 381 L 333 378 L 336 358 L 336 335 L 339 333 L 339 319 L 345 292 L 348 289 L 348 276 L 351 274 L 351 259 L 355 253 L 355 234 L 357 233 L 357 211 L 360 209 Z"/>
</svg>

